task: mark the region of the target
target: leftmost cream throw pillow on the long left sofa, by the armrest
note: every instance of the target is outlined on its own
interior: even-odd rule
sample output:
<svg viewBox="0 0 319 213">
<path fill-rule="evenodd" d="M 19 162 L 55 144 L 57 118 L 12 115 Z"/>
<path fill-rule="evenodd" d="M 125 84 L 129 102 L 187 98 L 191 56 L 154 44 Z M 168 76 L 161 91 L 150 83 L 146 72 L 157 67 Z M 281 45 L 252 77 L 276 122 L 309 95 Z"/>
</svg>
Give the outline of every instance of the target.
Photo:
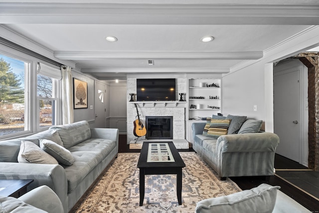
<svg viewBox="0 0 319 213">
<path fill-rule="evenodd" d="M 30 141 L 21 141 L 20 151 L 18 154 L 19 163 L 35 164 L 58 164 L 51 155 L 44 152 L 40 147 Z"/>
</svg>

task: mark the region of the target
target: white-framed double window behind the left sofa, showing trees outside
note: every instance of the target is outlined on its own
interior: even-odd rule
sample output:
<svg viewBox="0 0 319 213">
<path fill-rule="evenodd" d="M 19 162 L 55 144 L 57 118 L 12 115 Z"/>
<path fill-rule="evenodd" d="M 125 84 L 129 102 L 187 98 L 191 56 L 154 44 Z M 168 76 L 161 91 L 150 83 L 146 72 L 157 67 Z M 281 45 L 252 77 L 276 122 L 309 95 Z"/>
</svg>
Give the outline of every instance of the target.
<svg viewBox="0 0 319 213">
<path fill-rule="evenodd" d="M 59 67 L 12 52 L 16 55 L 0 53 L 0 139 L 38 132 L 61 120 Z"/>
</svg>

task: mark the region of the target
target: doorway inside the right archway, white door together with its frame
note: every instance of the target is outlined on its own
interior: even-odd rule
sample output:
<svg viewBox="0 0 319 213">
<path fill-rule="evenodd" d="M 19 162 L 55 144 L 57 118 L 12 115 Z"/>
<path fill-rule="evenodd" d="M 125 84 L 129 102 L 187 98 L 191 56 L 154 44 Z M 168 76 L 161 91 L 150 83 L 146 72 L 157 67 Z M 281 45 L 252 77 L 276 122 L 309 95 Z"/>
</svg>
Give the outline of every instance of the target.
<svg viewBox="0 0 319 213">
<path fill-rule="evenodd" d="M 274 132 L 276 153 L 308 166 L 308 73 L 299 60 L 274 67 Z"/>
</svg>

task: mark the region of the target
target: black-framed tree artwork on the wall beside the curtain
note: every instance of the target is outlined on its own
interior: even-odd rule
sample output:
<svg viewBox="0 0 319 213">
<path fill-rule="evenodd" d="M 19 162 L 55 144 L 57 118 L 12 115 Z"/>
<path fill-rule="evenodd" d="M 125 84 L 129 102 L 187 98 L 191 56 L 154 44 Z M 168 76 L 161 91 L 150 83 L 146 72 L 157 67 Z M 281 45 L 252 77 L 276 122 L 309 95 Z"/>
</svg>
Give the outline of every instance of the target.
<svg viewBox="0 0 319 213">
<path fill-rule="evenodd" d="M 73 78 L 74 109 L 88 108 L 88 83 Z"/>
</svg>

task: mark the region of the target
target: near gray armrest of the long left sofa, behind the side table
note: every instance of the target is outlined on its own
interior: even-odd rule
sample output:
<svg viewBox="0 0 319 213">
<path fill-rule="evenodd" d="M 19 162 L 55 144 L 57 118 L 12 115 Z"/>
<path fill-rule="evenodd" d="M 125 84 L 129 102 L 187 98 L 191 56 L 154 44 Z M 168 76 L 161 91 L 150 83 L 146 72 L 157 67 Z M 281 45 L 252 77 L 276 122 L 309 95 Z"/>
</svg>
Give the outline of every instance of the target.
<svg viewBox="0 0 319 213">
<path fill-rule="evenodd" d="M 62 166 L 57 164 L 31 164 L 0 162 L 0 179 L 33 179 L 27 187 L 30 191 L 46 185 L 59 197 L 64 212 L 67 213 L 67 178 Z"/>
</svg>

